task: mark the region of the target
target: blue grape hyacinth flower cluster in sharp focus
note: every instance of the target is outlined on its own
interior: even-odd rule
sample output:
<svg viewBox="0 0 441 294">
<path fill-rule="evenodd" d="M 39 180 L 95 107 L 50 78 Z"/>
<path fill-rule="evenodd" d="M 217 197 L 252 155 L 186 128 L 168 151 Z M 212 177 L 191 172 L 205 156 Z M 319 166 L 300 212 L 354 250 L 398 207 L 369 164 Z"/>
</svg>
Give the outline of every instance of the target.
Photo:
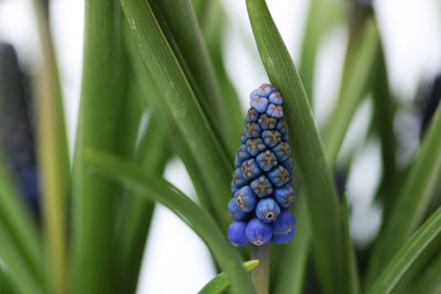
<svg viewBox="0 0 441 294">
<path fill-rule="evenodd" d="M 249 98 L 233 173 L 228 239 L 238 247 L 284 243 L 294 235 L 295 218 L 289 208 L 295 196 L 282 97 L 263 84 Z"/>
</svg>

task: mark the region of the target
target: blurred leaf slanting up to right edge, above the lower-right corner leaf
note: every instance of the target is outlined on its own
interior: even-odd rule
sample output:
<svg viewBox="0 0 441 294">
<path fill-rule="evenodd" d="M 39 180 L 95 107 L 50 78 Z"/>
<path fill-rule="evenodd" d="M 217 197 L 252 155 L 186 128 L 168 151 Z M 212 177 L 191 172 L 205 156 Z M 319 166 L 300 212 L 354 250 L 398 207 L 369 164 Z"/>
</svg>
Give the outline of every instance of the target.
<svg viewBox="0 0 441 294">
<path fill-rule="evenodd" d="M 390 215 L 386 218 L 372 253 L 370 284 L 421 221 L 441 176 L 441 111 L 438 108 Z M 406 216 L 406 217 L 404 217 Z"/>
</svg>

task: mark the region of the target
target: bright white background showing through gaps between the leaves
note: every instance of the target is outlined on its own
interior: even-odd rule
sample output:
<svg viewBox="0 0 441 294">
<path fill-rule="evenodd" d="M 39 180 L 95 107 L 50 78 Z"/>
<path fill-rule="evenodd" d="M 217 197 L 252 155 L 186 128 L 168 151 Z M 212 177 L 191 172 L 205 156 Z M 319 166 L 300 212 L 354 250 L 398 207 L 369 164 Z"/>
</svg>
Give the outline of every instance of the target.
<svg viewBox="0 0 441 294">
<path fill-rule="evenodd" d="M 268 0 L 275 21 L 294 61 L 308 12 L 308 0 Z M 243 97 L 244 111 L 248 92 L 267 81 L 258 59 L 245 1 L 224 0 L 230 20 L 225 43 L 227 70 Z M 379 18 L 383 42 L 394 92 L 410 101 L 419 84 L 440 73 L 441 6 L 435 0 L 379 0 L 375 8 Z M 75 134 L 82 72 L 84 1 L 53 0 L 51 20 L 61 69 L 69 145 Z M 15 45 L 20 62 L 30 70 L 39 58 L 35 24 L 30 0 L 0 0 L 0 40 Z M 332 30 L 319 50 L 315 113 L 319 123 L 330 110 L 338 89 L 338 75 L 344 56 L 346 29 Z M 370 105 L 365 102 L 351 126 L 344 148 L 364 137 Z M 364 243 L 375 235 L 380 208 L 372 204 L 379 178 L 379 148 L 375 140 L 359 150 L 354 160 L 347 190 L 353 205 L 352 232 Z M 193 187 L 179 160 L 166 167 L 165 177 L 194 197 Z M 185 225 L 165 208 L 154 213 L 143 262 L 139 293 L 195 293 L 215 274 L 205 246 Z"/>
</svg>

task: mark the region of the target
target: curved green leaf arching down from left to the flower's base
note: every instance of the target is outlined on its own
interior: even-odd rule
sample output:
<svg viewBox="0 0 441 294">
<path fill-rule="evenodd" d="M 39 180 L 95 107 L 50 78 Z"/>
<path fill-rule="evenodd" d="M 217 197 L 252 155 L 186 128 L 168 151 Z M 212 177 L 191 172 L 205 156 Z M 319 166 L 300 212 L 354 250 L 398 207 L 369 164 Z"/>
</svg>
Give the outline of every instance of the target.
<svg viewBox="0 0 441 294">
<path fill-rule="evenodd" d="M 219 266 L 228 275 L 233 292 L 255 292 L 250 277 L 241 266 L 238 252 L 225 238 L 226 233 L 219 230 L 207 211 L 176 187 L 104 152 L 87 150 L 84 160 L 98 167 L 101 173 L 142 192 L 143 197 L 157 200 L 176 214 L 207 244 Z"/>
</svg>

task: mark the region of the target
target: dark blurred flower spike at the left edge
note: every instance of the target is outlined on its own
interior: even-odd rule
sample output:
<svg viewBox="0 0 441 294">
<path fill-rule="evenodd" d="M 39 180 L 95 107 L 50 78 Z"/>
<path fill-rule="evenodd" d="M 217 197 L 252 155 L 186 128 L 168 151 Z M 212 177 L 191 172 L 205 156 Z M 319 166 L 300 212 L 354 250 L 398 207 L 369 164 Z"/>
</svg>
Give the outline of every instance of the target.
<svg viewBox="0 0 441 294">
<path fill-rule="evenodd" d="M 0 152 L 25 203 L 39 219 L 39 166 L 30 115 L 32 97 L 11 45 L 0 44 Z"/>
</svg>

